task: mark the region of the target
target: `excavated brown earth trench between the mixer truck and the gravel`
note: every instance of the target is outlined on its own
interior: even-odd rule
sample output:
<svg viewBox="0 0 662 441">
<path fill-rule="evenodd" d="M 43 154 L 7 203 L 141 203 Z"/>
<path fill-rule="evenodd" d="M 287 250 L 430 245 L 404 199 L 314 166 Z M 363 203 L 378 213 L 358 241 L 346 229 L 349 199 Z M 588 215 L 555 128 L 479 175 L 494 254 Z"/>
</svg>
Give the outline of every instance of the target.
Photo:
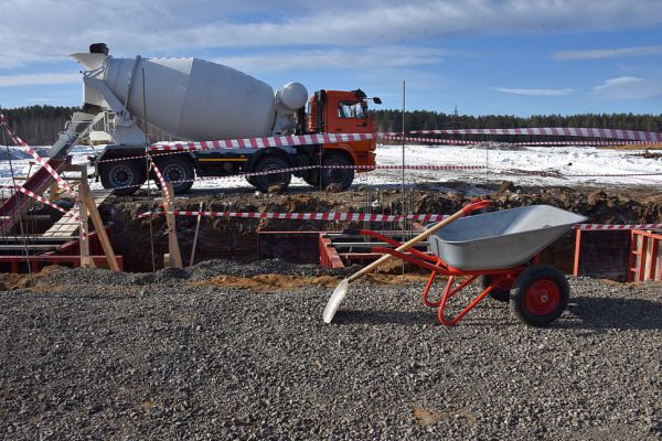
<svg viewBox="0 0 662 441">
<path fill-rule="evenodd" d="M 500 186 L 469 186 L 465 183 L 445 183 L 444 187 L 417 186 L 407 192 L 410 213 L 450 214 L 470 200 L 485 197 L 494 202 L 496 209 L 532 204 L 548 204 L 588 216 L 590 223 L 641 224 L 662 219 L 662 192 L 652 187 L 520 187 L 511 182 Z M 361 212 L 398 213 L 402 195 L 397 190 L 357 189 L 329 193 L 293 189 L 285 194 L 254 194 L 249 190 L 221 190 L 217 193 L 195 192 L 178 197 L 175 208 L 197 211 L 203 203 L 205 211 L 324 213 Z M 138 215 L 156 208 L 158 200 L 145 194 L 110 197 L 100 206 L 105 222 L 114 224 L 113 244 L 124 256 L 127 271 L 152 270 L 152 241 L 156 268 L 163 266 L 168 252 L 164 216 L 152 219 Z M 150 229 L 151 223 L 151 229 Z M 195 217 L 178 217 L 178 238 L 184 265 L 191 256 L 195 234 Z M 195 262 L 213 258 L 232 258 L 239 261 L 257 259 L 258 232 L 317 232 L 364 227 L 363 223 L 300 222 L 281 219 L 245 219 L 203 217 L 195 250 Z M 372 225 L 375 229 L 397 229 L 397 225 Z M 572 271 L 574 235 L 566 235 L 548 247 L 543 261 Z"/>
</svg>

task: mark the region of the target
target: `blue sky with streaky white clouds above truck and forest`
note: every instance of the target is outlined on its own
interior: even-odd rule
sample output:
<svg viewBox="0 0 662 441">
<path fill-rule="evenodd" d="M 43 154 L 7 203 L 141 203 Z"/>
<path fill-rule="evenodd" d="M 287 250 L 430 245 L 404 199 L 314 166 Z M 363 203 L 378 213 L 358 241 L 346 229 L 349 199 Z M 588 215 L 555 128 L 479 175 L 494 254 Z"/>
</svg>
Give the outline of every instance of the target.
<svg viewBox="0 0 662 441">
<path fill-rule="evenodd" d="M 662 114 L 662 1 L 3 0 L 0 106 L 81 105 L 67 55 L 197 56 L 383 108 Z"/>
</svg>

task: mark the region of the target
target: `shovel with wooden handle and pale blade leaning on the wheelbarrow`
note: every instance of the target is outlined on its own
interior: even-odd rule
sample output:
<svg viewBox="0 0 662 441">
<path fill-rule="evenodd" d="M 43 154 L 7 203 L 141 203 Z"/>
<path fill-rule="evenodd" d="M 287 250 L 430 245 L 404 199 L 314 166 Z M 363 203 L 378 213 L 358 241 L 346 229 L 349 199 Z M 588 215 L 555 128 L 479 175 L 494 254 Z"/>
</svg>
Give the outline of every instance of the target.
<svg viewBox="0 0 662 441">
<path fill-rule="evenodd" d="M 426 229 L 418 236 L 414 237 L 413 239 L 409 239 L 409 241 L 401 245 L 395 250 L 396 251 L 406 251 L 407 249 L 412 248 L 417 243 L 427 239 L 428 237 L 430 237 L 431 235 L 434 235 L 435 233 L 437 233 L 439 229 L 444 228 L 451 222 L 455 222 L 455 220 L 459 219 L 460 217 L 465 216 L 466 214 L 469 214 L 476 209 L 484 208 L 484 207 L 489 206 L 490 204 L 491 204 L 490 201 L 482 201 L 482 200 L 474 201 L 471 204 L 463 207 L 462 209 L 460 209 L 459 212 L 457 212 L 456 214 L 441 220 L 434 227 Z M 342 299 L 344 299 L 345 294 L 348 293 L 351 282 L 359 279 L 361 276 L 367 275 L 370 271 L 377 268 L 380 265 L 384 263 L 386 260 L 391 259 L 392 257 L 393 257 L 392 255 L 384 255 L 380 259 L 377 259 L 374 262 L 372 262 L 371 265 L 369 265 L 367 267 L 363 268 L 361 271 L 354 272 L 352 276 L 350 276 L 349 278 L 346 278 L 342 282 L 340 282 L 338 284 L 338 287 L 335 287 L 333 294 L 331 294 L 331 298 L 329 299 L 329 302 L 327 303 L 327 308 L 324 308 L 324 313 L 322 315 L 324 323 L 331 323 L 331 321 L 333 320 L 333 315 L 335 315 L 335 311 L 338 311 L 338 306 L 340 305 L 340 302 L 342 302 Z"/>
</svg>

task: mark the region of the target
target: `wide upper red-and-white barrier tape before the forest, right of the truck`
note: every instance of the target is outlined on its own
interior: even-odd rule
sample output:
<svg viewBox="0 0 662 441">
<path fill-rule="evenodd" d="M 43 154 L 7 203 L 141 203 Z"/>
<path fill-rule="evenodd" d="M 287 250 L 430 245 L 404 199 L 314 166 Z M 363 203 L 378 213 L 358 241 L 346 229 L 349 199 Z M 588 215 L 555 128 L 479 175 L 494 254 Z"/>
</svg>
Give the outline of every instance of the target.
<svg viewBox="0 0 662 441">
<path fill-rule="evenodd" d="M 585 127 L 537 127 L 519 129 L 442 129 L 412 130 L 410 135 L 530 135 L 554 137 L 608 138 L 629 141 L 662 142 L 662 133 L 653 131 L 595 129 Z M 402 136 L 402 133 L 382 133 L 384 136 Z"/>
</svg>

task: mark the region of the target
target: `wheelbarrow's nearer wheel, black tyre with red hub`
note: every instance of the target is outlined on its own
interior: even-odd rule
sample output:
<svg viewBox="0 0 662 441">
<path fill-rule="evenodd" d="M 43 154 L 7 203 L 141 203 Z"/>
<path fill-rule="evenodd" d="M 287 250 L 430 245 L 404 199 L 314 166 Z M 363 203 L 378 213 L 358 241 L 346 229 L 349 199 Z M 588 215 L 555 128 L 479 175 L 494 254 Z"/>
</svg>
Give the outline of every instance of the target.
<svg viewBox="0 0 662 441">
<path fill-rule="evenodd" d="M 563 314 L 570 287 L 563 272 L 546 265 L 522 272 L 511 290 L 511 310 L 524 323 L 546 326 Z"/>
</svg>

